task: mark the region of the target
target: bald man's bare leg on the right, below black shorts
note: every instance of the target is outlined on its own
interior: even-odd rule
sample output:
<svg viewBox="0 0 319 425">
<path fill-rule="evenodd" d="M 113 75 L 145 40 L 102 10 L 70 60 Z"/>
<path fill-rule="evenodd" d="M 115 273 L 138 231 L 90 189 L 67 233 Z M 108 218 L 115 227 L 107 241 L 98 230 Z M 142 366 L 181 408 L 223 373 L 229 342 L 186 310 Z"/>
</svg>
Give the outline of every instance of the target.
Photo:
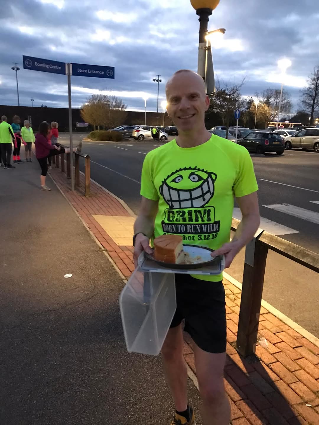
<svg viewBox="0 0 319 425">
<path fill-rule="evenodd" d="M 223 382 L 225 353 L 203 351 L 193 344 L 196 376 L 202 398 L 203 425 L 228 425 L 231 410 Z"/>
</svg>

